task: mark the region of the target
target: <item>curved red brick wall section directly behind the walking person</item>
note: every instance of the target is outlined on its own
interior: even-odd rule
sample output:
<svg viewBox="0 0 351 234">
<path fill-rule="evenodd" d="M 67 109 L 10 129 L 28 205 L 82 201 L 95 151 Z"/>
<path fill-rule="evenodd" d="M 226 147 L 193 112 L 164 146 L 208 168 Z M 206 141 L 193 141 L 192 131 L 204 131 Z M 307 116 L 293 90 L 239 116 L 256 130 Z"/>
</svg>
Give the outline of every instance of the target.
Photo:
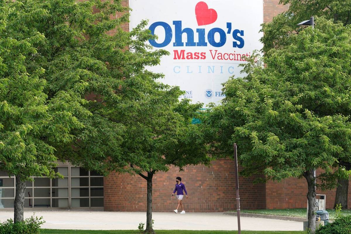
<svg viewBox="0 0 351 234">
<path fill-rule="evenodd" d="M 208 168 L 188 166 L 179 172 L 171 167 L 158 172 L 153 178 L 153 210 L 169 212 L 176 208 L 177 200 L 171 196 L 180 176 L 189 198 L 184 198 L 188 212 L 220 212 L 236 209 L 234 163 L 217 160 Z M 253 178 L 239 178 L 240 206 L 243 209 L 265 208 L 264 184 L 253 185 Z M 146 181 L 139 175 L 110 174 L 104 179 L 104 207 L 106 211 L 145 211 Z"/>
</svg>

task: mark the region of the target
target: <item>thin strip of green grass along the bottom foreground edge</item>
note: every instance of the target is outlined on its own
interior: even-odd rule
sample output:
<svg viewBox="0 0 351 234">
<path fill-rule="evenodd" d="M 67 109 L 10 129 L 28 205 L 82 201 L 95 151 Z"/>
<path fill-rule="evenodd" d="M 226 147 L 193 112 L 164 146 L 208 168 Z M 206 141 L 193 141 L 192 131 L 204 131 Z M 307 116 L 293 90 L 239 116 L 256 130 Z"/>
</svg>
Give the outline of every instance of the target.
<svg viewBox="0 0 351 234">
<path fill-rule="evenodd" d="M 156 234 L 237 234 L 238 231 L 189 231 L 189 230 L 155 230 Z M 243 234 L 305 234 L 306 232 L 281 232 L 281 231 L 241 231 Z M 41 234 L 139 234 L 137 230 L 56 230 L 56 229 L 42 229 Z"/>
</svg>

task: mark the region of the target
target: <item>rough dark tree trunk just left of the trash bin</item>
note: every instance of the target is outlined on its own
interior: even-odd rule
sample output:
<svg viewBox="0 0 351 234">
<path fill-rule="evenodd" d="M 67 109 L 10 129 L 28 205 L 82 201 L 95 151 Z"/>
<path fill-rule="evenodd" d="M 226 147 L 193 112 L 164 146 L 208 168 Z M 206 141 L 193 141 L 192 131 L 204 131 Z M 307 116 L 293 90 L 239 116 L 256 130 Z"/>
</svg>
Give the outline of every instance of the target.
<svg viewBox="0 0 351 234">
<path fill-rule="evenodd" d="M 311 234 L 316 232 L 316 171 L 311 169 L 304 172 L 304 177 L 307 180 L 308 193 L 308 229 Z"/>
</svg>

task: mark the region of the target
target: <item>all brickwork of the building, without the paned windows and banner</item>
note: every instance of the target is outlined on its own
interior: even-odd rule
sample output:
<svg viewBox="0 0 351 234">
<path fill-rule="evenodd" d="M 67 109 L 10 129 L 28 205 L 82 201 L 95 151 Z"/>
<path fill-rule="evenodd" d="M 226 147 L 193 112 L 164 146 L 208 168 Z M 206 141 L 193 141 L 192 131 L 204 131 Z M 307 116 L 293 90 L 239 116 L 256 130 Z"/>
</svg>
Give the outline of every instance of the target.
<svg viewBox="0 0 351 234">
<path fill-rule="evenodd" d="M 124 1 L 128 4 L 128 1 Z M 274 16 L 286 11 L 287 5 L 279 0 L 263 0 L 263 21 L 270 22 Z M 158 172 L 153 179 L 153 210 L 170 211 L 176 200 L 171 196 L 176 176 L 180 176 L 187 188 L 189 199 L 185 209 L 189 212 L 213 212 L 236 209 L 234 163 L 217 160 L 210 168 L 189 166 L 179 172 L 171 167 L 167 173 Z M 259 176 L 259 175 L 258 175 Z M 282 182 L 253 184 L 255 178 L 239 178 L 241 209 L 304 208 L 307 203 L 306 180 L 291 178 Z M 349 185 L 349 192 L 351 185 Z M 121 189 L 122 188 L 122 189 Z M 335 190 L 318 191 L 326 194 L 326 207 L 332 208 Z M 349 206 L 351 196 L 349 195 Z M 104 178 L 104 209 L 107 211 L 146 210 L 146 181 L 140 176 L 110 174 Z"/>
</svg>

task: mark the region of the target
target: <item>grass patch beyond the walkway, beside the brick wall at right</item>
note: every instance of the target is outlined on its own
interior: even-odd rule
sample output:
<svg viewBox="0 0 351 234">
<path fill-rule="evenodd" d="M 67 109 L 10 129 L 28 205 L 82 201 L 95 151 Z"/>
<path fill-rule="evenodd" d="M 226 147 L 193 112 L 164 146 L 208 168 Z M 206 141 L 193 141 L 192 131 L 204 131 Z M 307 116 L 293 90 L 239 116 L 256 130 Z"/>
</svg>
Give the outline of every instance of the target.
<svg viewBox="0 0 351 234">
<path fill-rule="evenodd" d="M 300 217 L 306 218 L 306 209 L 273 209 L 273 210 L 240 210 L 241 213 L 250 213 L 250 214 L 270 214 L 270 215 L 282 215 L 282 216 L 291 216 L 291 217 Z M 234 211 L 233 211 L 234 212 Z M 236 210 L 235 210 L 236 212 Z M 334 220 L 335 218 L 335 209 L 327 209 L 329 212 L 329 220 Z M 351 209 L 342 210 L 343 215 L 351 215 Z"/>
</svg>

